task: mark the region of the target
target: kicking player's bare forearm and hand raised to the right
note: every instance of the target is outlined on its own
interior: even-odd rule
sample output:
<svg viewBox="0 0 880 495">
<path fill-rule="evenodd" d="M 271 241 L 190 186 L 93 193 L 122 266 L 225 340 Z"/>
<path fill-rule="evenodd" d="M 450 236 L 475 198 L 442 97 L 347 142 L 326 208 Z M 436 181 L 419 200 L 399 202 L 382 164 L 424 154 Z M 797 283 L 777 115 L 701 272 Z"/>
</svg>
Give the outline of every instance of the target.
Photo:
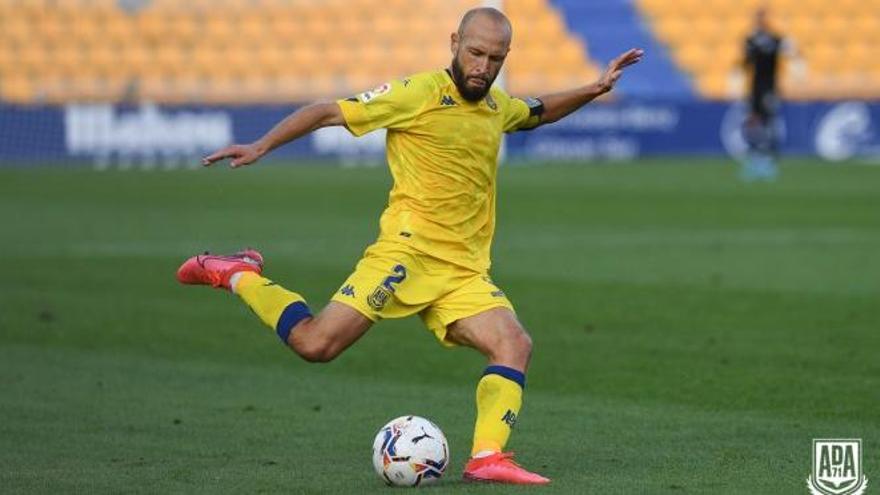
<svg viewBox="0 0 880 495">
<path fill-rule="evenodd" d="M 634 48 L 621 54 L 619 57 L 608 63 L 605 72 L 603 72 L 602 75 L 599 76 L 599 79 L 592 84 L 587 84 L 586 86 L 570 89 L 568 91 L 539 96 L 538 99 L 541 100 L 541 103 L 543 103 L 544 106 L 539 125 L 556 122 L 593 101 L 597 97 L 614 89 L 617 80 L 623 75 L 623 69 L 638 63 L 642 59 L 644 53 L 643 50 Z"/>
</svg>

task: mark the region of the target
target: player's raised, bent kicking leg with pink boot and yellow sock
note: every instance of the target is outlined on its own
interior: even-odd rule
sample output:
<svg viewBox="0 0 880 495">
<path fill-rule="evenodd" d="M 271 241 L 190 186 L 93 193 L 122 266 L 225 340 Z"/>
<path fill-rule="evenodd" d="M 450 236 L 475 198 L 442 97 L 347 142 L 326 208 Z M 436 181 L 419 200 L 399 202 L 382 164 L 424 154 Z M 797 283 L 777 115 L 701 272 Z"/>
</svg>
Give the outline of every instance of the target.
<svg viewBox="0 0 880 495">
<path fill-rule="evenodd" d="M 359 339 L 372 325 L 360 312 L 331 302 L 312 316 L 305 299 L 262 276 L 263 258 L 245 250 L 229 256 L 203 254 L 177 272 L 180 282 L 211 285 L 237 294 L 278 337 L 306 361 L 327 362 Z"/>
</svg>

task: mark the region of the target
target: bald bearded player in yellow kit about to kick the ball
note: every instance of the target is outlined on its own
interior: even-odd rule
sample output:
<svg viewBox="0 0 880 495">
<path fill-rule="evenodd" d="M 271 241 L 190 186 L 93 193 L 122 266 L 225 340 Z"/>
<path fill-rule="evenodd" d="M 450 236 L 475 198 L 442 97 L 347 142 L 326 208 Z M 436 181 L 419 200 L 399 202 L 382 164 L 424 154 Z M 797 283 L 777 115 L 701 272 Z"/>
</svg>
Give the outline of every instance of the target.
<svg viewBox="0 0 880 495">
<path fill-rule="evenodd" d="M 360 136 L 385 128 L 394 178 L 378 240 L 367 248 L 332 301 L 313 314 L 303 297 L 262 276 L 255 250 L 198 255 L 178 270 L 186 284 L 237 294 L 303 359 L 325 362 L 384 318 L 418 314 L 441 344 L 475 348 L 488 359 L 477 384 L 470 480 L 543 484 L 504 452 L 522 404 L 532 341 L 513 305 L 489 278 L 495 231 L 495 179 L 502 133 L 555 122 L 610 91 L 641 50 L 611 61 L 583 87 L 525 100 L 492 83 L 509 51 L 512 28 L 491 8 L 468 11 L 452 34 L 447 69 L 417 74 L 336 102 L 314 103 L 265 136 L 204 159 L 232 167 L 325 126 Z"/>
</svg>

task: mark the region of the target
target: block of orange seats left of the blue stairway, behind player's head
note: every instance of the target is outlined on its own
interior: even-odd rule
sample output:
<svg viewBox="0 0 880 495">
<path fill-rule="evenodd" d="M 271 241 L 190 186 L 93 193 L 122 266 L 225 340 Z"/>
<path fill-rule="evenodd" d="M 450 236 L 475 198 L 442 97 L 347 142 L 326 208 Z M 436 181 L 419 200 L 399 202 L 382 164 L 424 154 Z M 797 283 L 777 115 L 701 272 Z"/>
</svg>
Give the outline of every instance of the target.
<svg viewBox="0 0 880 495">
<path fill-rule="evenodd" d="M 0 0 L 0 95 L 17 103 L 272 103 L 445 66 L 465 0 Z M 598 73 L 546 0 L 507 2 L 512 92 Z"/>
</svg>

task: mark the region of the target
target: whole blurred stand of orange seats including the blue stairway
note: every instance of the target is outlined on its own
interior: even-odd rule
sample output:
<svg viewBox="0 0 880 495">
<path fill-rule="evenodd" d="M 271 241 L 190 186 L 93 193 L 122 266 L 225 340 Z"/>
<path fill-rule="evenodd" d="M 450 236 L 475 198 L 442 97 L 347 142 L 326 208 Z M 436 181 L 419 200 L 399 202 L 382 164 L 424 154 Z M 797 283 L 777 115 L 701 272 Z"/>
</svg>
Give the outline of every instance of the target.
<svg viewBox="0 0 880 495">
<path fill-rule="evenodd" d="M 0 100 L 279 103 L 338 97 L 446 65 L 472 0 L 0 0 Z M 788 98 L 880 98 L 880 0 L 506 0 L 506 84 L 538 94 L 649 53 L 618 94 L 742 95 L 759 5 L 803 55 Z"/>
</svg>

